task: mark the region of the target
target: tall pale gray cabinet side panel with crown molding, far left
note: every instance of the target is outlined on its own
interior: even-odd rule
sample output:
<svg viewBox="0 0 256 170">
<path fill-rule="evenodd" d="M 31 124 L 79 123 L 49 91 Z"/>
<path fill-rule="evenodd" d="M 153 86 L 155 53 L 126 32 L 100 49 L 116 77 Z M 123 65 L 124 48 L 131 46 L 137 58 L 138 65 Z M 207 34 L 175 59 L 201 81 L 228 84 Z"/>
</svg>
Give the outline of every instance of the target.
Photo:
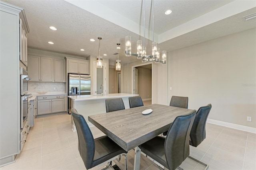
<svg viewBox="0 0 256 170">
<path fill-rule="evenodd" d="M 20 19 L 23 32 L 20 32 Z M 24 38 L 26 35 L 24 32 L 29 32 L 24 10 L 0 1 L 0 28 L 1 167 L 14 162 L 15 155 L 20 153 L 22 140 L 20 137 L 20 44 L 22 44 L 21 37 Z M 26 48 L 26 42 L 23 44 L 24 47 Z"/>
</svg>

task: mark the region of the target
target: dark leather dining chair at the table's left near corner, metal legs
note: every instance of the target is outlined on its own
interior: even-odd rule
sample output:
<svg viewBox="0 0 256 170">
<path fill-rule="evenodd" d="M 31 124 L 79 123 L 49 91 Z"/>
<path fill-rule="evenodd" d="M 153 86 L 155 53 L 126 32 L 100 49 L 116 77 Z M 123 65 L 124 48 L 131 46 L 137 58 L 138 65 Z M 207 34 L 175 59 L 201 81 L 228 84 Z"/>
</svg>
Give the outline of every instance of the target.
<svg viewBox="0 0 256 170">
<path fill-rule="evenodd" d="M 127 152 L 125 150 L 108 136 L 94 139 L 84 116 L 78 114 L 75 108 L 72 108 L 72 117 L 78 134 L 78 150 L 86 169 L 108 162 L 108 165 L 103 168 L 106 169 L 111 165 L 112 160 L 124 155 L 125 169 L 127 170 Z"/>
</svg>

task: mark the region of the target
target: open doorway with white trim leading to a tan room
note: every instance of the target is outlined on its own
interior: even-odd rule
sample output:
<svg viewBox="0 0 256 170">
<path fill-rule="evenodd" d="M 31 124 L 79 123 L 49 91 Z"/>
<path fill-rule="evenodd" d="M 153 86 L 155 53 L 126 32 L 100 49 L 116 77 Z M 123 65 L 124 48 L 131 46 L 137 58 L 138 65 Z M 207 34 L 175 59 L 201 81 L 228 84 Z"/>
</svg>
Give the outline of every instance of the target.
<svg viewBox="0 0 256 170">
<path fill-rule="evenodd" d="M 152 63 L 132 67 L 132 92 L 143 101 L 152 102 Z"/>
</svg>

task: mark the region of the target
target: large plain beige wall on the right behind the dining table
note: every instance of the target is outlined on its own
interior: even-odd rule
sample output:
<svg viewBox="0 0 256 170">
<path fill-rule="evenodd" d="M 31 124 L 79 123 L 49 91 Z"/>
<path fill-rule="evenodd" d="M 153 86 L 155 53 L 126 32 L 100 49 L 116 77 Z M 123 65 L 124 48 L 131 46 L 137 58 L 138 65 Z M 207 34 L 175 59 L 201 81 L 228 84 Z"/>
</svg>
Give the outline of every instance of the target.
<svg viewBox="0 0 256 170">
<path fill-rule="evenodd" d="M 256 128 L 255 28 L 168 56 L 169 101 L 171 96 L 188 96 L 191 109 L 211 103 L 208 118 Z"/>
</svg>

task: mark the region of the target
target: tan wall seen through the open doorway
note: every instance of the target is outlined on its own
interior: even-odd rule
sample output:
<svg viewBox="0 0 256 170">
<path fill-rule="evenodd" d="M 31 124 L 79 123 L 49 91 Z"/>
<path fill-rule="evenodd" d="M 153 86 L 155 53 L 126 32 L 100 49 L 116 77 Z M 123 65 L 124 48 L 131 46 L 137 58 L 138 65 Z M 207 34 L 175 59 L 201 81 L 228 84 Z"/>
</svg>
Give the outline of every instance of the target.
<svg viewBox="0 0 256 170">
<path fill-rule="evenodd" d="M 138 94 L 143 99 L 152 98 L 151 69 L 136 67 L 138 69 Z"/>
</svg>

